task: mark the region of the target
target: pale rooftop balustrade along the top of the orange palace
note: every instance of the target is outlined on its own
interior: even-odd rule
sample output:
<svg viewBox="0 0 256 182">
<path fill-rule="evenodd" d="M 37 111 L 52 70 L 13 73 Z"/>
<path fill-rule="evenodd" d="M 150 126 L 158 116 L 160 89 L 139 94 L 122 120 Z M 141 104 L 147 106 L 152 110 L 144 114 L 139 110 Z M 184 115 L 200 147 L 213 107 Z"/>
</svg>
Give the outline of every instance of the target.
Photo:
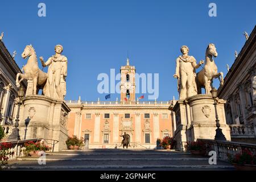
<svg viewBox="0 0 256 182">
<path fill-rule="evenodd" d="M 85 106 L 98 106 L 98 105 L 171 105 L 171 101 L 65 101 L 67 105 L 85 105 Z"/>
</svg>

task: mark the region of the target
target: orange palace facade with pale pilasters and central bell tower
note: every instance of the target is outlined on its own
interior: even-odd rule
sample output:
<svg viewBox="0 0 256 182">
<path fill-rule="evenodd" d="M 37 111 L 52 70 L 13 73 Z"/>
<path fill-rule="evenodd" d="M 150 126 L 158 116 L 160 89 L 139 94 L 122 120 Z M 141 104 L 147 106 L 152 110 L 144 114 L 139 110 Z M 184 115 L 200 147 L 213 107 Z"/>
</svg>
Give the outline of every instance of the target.
<svg viewBox="0 0 256 182">
<path fill-rule="evenodd" d="M 124 133 L 130 137 L 130 148 L 155 148 L 156 139 L 174 133 L 172 101 L 135 100 L 135 67 L 122 66 L 120 101 L 66 101 L 68 134 L 83 137 L 84 148 L 119 148 Z"/>
</svg>

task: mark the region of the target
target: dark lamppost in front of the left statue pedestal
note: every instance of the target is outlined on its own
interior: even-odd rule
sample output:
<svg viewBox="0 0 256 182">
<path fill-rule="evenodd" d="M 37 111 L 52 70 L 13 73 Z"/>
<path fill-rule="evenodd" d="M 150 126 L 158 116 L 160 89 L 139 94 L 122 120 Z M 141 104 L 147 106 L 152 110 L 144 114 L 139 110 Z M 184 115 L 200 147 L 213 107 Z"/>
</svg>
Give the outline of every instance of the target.
<svg viewBox="0 0 256 182">
<path fill-rule="evenodd" d="M 17 116 L 15 119 L 15 128 L 13 129 L 11 135 L 9 136 L 8 140 L 9 141 L 14 141 L 14 140 L 20 140 L 20 136 L 19 136 L 19 108 L 20 105 L 22 104 L 22 98 L 24 97 L 24 88 L 22 86 L 20 86 L 19 90 L 18 90 L 18 97 L 19 97 L 19 101 L 18 101 L 18 111 L 17 111 Z"/>
</svg>

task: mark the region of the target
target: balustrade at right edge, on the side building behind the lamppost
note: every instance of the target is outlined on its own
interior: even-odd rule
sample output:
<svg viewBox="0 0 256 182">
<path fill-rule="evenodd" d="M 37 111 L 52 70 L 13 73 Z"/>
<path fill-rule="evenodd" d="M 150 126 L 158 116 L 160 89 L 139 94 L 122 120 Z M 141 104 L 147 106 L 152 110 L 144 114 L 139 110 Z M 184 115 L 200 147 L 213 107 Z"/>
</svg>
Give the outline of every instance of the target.
<svg viewBox="0 0 256 182">
<path fill-rule="evenodd" d="M 254 125 L 229 125 L 232 137 L 255 137 Z"/>
</svg>

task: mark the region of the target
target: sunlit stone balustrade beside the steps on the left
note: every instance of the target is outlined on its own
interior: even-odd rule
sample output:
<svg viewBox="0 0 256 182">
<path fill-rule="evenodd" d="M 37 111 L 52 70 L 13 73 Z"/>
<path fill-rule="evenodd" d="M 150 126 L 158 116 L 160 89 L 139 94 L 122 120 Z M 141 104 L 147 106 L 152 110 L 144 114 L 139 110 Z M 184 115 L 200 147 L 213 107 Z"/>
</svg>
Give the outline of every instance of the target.
<svg viewBox="0 0 256 182">
<path fill-rule="evenodd" d="M 2 143 L 10 143 L 12 145 L 11 148 L 9 148 L 9 153 L 13 153 L 13 155 L 7 155 L 9 160 L 14 160 L 18 157 L 25 156 L 24 151 L 26 150 L 25 143 L 26 142 L 40 142 L 42 138 L 36 138 L 36 139 L 28 139 L 28 140 L 18 140 L 18 141 L 11 141 L 11 142 L 0 142 L 0 146 Z"/>
</svg>

